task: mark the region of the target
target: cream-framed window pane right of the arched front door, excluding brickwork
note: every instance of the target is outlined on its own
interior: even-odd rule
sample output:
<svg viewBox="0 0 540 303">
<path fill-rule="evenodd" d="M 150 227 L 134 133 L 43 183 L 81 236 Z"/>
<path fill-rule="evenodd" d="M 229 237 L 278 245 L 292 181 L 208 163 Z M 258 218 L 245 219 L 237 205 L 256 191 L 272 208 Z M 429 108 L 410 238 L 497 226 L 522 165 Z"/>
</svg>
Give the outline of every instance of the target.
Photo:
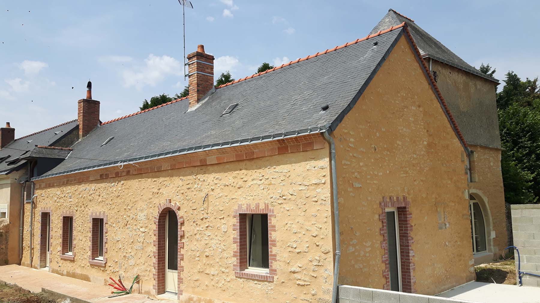
<svg viewBox="0 0 540 303">
<path fill-rule="evenodd" d="M 248 268 L 267 270 L 268 262 L 268 215 L 247 216 Z"/>
</svg>

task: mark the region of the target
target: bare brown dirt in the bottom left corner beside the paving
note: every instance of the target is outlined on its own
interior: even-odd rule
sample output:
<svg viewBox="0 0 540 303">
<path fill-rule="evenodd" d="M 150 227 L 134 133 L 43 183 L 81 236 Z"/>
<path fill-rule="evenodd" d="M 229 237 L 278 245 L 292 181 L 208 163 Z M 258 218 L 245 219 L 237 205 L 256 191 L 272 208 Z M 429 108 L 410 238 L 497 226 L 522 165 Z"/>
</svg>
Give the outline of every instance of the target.
<svg viewBox="0 0 540 303">
<path fill-rule="evenodd" d="M 48 293 L 32 293 L 17 285 L 0 280 L 0 302 L 9 303 L 63 303 L 65 298 Z"/>
</svg>

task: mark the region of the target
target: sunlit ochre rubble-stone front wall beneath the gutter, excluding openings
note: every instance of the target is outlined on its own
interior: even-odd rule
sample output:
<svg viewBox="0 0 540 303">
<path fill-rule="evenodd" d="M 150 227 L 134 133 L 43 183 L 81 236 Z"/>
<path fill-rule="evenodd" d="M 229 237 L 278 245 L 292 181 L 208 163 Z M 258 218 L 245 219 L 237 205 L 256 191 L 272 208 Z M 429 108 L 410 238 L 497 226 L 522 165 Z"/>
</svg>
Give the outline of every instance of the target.
<svg viewBox="0 0 540 303">
<path fill-rule="evenodd" d="M 124 169 L 127 169 L 124 167 Z M 141 276 L 143 293 L 153 292 L 152 231 L 158 205 L 171 198 L 184 217 L 183 296 L 254 302 L 315 302 L 332 293 L 332 218 L 328 148 L 256 159 L 170 169 L 38 187 L 36 206 L 52 208 L 51 271 L 105 283 L 122 274 Z M 114 173 L 111 173 L 114 176 Z M 46 181 L 46 180 L 45 180 Z M 208 197 L 204 200 L 205 195 Z M 204 201 L 204 203 L 203 203 Z M 233 265 L 233 210 L 238 204 L 268 202 L 275 211 L 277 276 L 273 283 L 236 278 Z M 59 258 L 62 211 L 73 210 L 75 260 Z M 107 263 L 89 264 L 91 211 L 107 215 Z M 29 205 L 25 217 L 29 220 Z M 34 257 L 38 262 L 39 216 L 34 217 Z M 28 225 L 25 226 L 23 265 L 29 265 Z"/>
</svg>

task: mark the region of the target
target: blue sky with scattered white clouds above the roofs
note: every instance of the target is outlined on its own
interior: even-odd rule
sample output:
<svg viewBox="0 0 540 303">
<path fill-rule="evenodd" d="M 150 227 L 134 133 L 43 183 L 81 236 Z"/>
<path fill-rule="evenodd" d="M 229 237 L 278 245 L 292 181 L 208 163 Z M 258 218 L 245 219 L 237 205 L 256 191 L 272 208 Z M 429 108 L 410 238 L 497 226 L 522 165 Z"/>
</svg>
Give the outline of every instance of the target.
<svg viewBox="0 0 540 303">
<path fill-rule="evenodd" d="M 495 66 L 498 79 L 508 70 L 522 78 L 540 74 L 538 2 L 192 3 L 186 52 L 204 44 L 216 58 L 215 74 L 230 70 L 235 79 L 255 73 L 264 61 L 281 64 L 365 37 L 389 8 L 471 65 Z M 0 42 L 0 123 L 11 122 L 16 137 L 76 119 L 89 79 L 102 121 L 137 112 L 144 99 L 186 85 L 177 0 L 4 0 Z"/>
</svg>

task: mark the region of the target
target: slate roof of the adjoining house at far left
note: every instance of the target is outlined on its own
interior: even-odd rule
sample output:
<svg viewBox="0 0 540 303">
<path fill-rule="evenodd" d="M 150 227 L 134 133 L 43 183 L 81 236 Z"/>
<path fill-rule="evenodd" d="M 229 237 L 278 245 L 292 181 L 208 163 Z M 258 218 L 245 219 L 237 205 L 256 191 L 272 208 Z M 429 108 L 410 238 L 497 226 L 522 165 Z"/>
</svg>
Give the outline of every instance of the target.
<svg viewBox="0 0 540 303">
<path fill-rule="evenodd" d="M 8 174 L 12 170 L 25 164 L 26 161 L 21 160 L 18 163 L 8 165 L 15 159 L 27 157 L 36 145 L 49 146 L 62 138 L 63 135 L 69 133 L 69 131 L 77 125 L 79 125 L 77 120 L 68 121 L 48 129 L 40 130 L 37 133 L 20 137 L 9 143 L 6 147 L 0 149 L 0 159 L 9 156 L 8 159 L 0 161 L 0 175 Z"/>
</svg>

